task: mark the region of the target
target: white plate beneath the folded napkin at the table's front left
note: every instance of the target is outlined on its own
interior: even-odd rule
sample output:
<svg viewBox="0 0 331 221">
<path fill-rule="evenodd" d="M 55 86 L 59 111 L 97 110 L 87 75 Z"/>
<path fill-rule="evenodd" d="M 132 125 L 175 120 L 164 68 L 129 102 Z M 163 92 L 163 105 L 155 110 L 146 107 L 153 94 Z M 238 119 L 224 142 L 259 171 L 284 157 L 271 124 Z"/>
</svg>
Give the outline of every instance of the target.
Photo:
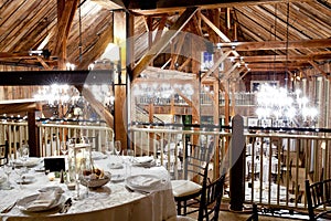
<svg viewBox="0 0 331 221">
<path fill-rule="evenodd" d="M 33 209 L 29 209 L 29 207 L 31 206 L 31 203 L 33 203 L 34 200 L 36 200 L 39 197 L 39 194 L 32 194 L 32 196 L 28 196 L 28 197 L 24 197 L 22 199 L 20 199 L 18 201 L 18 208 L 22 211 L 25 211 L 25 212 L 40 212 L 40 211 L 47 211 L 47 210 L 51 210 L 53 208 L 56 208 L 58 207 L 60 204 L 62 204 L 65 200 L 65 197 L 64 196 L 61 196 L 58 200 L 55 200 L 50 207 L 39 207 L 39 208 L 33 208 Z"/>
</svg>

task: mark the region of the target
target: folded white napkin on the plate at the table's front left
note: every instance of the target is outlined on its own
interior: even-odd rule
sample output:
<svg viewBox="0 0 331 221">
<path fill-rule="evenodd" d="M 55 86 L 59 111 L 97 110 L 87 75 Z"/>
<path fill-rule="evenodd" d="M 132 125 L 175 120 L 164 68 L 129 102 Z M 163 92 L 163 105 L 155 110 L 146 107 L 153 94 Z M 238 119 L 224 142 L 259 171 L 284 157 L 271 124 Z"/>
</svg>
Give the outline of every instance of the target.
<svg viewBox="0 0 331 221">
<path fill-rule="evenodd" d="M 39 196 L 26 206 L 28 211 L 40 211 L 49 209 L 53 203 L 58 200 L 57 191 L 40 192 Z"/>
</svg>

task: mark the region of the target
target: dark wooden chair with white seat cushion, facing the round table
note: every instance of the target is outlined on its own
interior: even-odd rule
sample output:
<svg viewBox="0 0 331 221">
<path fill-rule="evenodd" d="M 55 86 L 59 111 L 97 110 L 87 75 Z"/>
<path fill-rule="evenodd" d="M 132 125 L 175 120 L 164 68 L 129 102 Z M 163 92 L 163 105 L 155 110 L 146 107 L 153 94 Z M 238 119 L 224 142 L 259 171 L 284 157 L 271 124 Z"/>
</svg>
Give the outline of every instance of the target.
<svg viewBox="0 0 331 221">
<path fill-rule="evenodd" d="M 179 215 L 197 211 L 188 211 L 188 208 L 196 208 L 200 202 L 199 197 L 201 196 L 203 180 L 207 178 L 211 152 L 205 147 L 190 144 L 185 146 L 182 178 L 171 180 Z"/>
</svg>

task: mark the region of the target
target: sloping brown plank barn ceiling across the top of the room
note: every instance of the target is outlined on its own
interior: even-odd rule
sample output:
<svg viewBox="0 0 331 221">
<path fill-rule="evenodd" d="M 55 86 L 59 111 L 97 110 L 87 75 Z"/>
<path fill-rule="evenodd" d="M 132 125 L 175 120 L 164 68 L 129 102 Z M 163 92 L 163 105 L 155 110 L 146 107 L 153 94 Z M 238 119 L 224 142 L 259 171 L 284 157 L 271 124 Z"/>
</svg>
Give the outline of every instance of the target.
<svg viewBox="0 0 331 221">
<path fill-rule="evenodd" d="M 87 69 L 114 42 L 117 11 L 134 14 L 135 34 L 142 35 L 148 19 L 152 30 L 171 27 L 188 8 L 197 7 L 183 31 L 218 43 L 224 51 L 235 50 L 227 59 L 244 60 L 252 72 L 317 69 L 329 75 L 321 69 L 331 60 L 331 3 L 327 0 L 71 0 L 72 11 L 58 2 L 63 1 L 0 1 L 0 64 L 57 69 L 61 21 L 71 24 L 62 33 L 67 34 L 66 61 Z M 138 62 L 148 45 L 141 40 L 135 44 Z"/>
</svg>

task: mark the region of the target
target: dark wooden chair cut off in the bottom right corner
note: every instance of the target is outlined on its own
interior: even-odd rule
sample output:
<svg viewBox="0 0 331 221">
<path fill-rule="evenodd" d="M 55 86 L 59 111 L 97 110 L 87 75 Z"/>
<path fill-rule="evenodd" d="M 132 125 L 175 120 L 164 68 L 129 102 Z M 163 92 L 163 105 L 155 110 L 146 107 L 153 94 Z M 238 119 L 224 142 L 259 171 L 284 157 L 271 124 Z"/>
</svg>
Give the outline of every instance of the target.
<svg viewBox="0 0 331 221">
<path fill-rule="evenodd" d="M 331 179 L 314 183 L 309 183 L 309 180 L 306 180 L 306 198 L 309 220 L 317 220 L 331 213 Z M 321 210 L 318 211 L 320 208 Z M 316 211 L 318 212 L 316 213 Z"/>
</svg>

